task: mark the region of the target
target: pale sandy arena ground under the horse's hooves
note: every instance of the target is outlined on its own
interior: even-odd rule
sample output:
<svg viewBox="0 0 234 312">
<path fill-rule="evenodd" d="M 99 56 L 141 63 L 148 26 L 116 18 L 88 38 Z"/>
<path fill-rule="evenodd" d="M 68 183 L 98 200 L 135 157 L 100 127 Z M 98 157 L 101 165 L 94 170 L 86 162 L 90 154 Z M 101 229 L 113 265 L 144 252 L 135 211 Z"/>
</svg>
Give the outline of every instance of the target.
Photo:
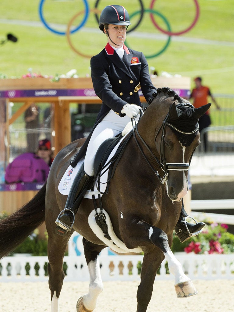
<svg viewBox="0 0 234 312">
<path fill-rule="evenodd" d="M 76 301 L 88 290 L 88 282 L 64 282 L 59 308 L 76 312 Z M 139 282 L 104 282 L 95 312 L 136 312 Z M 147 312 L 231 312 L 233 311 L 234 280 L 194 280 L 198 294 L 178 299 L 173 280 L 155 281 Z M 2 283 L 1 312 L 49 312 L 50 290 L 47 282 Z"/>
</svg>

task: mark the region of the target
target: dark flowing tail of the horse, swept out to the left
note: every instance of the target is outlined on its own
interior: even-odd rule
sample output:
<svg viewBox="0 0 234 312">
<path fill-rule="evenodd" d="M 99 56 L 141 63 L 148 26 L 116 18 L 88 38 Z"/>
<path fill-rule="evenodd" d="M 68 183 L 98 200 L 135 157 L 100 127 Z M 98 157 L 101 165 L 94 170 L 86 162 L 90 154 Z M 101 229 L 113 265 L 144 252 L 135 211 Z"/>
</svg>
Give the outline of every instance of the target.
<svg viewBox="0 0 234 312">
<path fill-rule="evenodd" d="M 19 210 L 0 223 L 0 259 L 14 250 L 45 221 L 46 183 Z"/>
</svg>

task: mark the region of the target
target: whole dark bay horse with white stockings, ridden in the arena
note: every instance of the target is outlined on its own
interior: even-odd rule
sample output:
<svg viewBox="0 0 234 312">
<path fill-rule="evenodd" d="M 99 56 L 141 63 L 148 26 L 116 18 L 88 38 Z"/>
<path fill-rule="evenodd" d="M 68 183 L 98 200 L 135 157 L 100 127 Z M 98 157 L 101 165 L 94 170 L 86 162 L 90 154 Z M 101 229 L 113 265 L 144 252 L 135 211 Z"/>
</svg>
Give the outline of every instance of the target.
<svg viewBox="0 0 234 312">
<path fill-rule="evenodd" d="M 159 89 L 129 139 L 110 180 L 108 194 L 101 198 L 103 211 L 106 217 L 109 216 L 112 232 L 116 240 L 121 241 L 121 248 L 144 252 L 137 312 L 147 310 L 155 276 L 164 257 L 175 277 L 177 297 L 197 293 L 170 246 L 181 211 L 181 199 L 188 190 L 188 167 L 193 151 L 200 143 L 197 120 L 209 107 L 207 104 L 194 109 L 169 88 Z M 55 220 L 67 197 L 59 192 L 58 185 L 71 157 L 83 142 L 84 139 L 80 139 L 63 148 L 52 163 L 47 183 L 30 202 L 0 224 L 0 257 L 3 257 L 46 220 L 51 312 L 58 312 L 65 276 L 63 256 L 74 231 L 83 236 L 90 272 L 88 294 L 77 301 L 77 312 L 93 311 L 103 290 L 98 255 L 108 243 L 90 227 L 88 220 L 94 211 L 93 201 L 83 199 L 73 231 L 63 237 L 56 234 Z"/>
</svg>

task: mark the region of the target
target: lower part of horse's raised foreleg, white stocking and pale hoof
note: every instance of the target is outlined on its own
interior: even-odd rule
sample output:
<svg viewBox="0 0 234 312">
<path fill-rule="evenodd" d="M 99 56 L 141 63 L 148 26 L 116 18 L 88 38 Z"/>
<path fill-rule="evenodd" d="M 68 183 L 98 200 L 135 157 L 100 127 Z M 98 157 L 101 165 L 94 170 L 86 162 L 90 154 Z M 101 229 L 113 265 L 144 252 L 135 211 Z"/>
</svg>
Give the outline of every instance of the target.
<svg viewBox="0 0 234 312">
<path fill-rule="evenodd" d="M 175 276 L 175 290 L 178 298 L 186 298 L 197 294 L 192 281 L 183 272 L 180 262 L 170 249 L 168 236 L 157 227 L 149 227 L 149 239 L 160 248 L 168 261 L 168 269 Z"/>
</svg>

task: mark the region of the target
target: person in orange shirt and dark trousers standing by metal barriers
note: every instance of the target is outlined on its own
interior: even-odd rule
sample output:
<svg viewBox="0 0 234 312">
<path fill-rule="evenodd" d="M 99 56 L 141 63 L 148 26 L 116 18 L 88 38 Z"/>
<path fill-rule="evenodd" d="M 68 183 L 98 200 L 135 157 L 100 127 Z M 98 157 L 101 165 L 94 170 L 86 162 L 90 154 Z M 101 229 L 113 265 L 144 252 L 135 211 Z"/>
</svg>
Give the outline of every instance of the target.
<svg viewBox="0 0 234 312">
<path fill-rule="evenodd" d="M 217 104 L 213 95 L 211 94 L 210 89 L 208 87 L 202 85 L 202 78 L 196 77 L 194 79 L 194 81 L 195 81 L 196 88 L 194 88 L 192 90 L 192 93 L 190 95 L 190 99 L 191 98 L 193 99 L 193 106 L 195 108 L 198 108 L 198 107 L 201 107 L 203 105 L 206 105 L 208 103 L 207 98 L 208 98 L 208 96 L 210 96 L 212 101 L 213 101 L 212 103 L 214 103 L 216 105 L 217 109 L 220 110 L 220 107 Z M 201 134 L 202 129 L 209 127 L 209 125 L 211 124 L 209 110 L 206 112 L 206 114 L 204 114 L 202 117 L 199 118 L 198 124 L 199 124 L 200 134 Z M 207 132 L 204 133 L 203 138 L 204 138 L 203 146 L 204 146 L 204 150 L 206 152 L 207 151 Z"/>
</svg>

